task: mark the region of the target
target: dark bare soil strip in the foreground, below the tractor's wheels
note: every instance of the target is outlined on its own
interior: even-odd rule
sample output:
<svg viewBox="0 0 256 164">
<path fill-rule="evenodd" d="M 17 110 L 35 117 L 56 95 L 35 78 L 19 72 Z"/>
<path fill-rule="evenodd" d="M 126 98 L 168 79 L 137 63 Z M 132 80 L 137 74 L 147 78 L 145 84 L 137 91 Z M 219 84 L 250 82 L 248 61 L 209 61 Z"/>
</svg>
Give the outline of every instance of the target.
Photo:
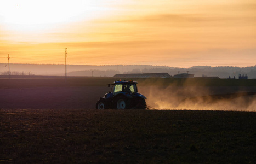
<svg viewBox="0 0 256 164">
<path fill-rule="evenodd" d="M 0 163 L 255 163 L 256 113 L 0 109 Z"/>
</svg>

